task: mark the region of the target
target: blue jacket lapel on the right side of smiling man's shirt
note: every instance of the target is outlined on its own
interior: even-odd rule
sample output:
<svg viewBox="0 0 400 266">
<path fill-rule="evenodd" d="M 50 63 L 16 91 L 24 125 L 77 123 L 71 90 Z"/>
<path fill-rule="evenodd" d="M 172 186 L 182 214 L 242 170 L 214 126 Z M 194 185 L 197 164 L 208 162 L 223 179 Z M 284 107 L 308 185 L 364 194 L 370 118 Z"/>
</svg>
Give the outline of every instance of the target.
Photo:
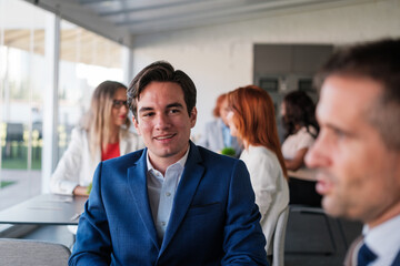
<svg viewBox="0 0 400 266">
<path fill-rule="evenodd" d="M 198 147 L 192 142 L 190 142 L 190 152 L 173 200 L 171 216 L 162 242 L 160 254 L 166 250 L 168 244 L 177 233 L 186 213 L 189 209 L 191 201 L 204 172 L 204 167 L 200 164 L 202 158 Z"/>
</svg>

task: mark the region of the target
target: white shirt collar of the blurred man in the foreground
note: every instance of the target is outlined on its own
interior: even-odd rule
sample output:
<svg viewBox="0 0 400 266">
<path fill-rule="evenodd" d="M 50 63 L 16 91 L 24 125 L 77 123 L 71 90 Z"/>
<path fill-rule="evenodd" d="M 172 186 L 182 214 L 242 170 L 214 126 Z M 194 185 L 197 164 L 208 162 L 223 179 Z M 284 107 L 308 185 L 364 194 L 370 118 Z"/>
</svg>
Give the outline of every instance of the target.
<svg viewBox="0 0 400 266">
<path fill-rule="evenodd" d="M 370 266 L 391 265 L 400 247 L 400 215 L 373 228 L 364 225 L 364 242 L 378 256 Z"/>
</svg>

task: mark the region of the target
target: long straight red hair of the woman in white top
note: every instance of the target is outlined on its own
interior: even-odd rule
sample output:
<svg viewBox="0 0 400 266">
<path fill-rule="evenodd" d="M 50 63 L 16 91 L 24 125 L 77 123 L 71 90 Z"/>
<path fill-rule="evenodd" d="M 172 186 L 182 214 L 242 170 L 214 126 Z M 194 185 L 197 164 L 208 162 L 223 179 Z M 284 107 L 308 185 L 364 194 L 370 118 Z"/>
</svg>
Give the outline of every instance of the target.
<svg viewBox="0 0 400 266">
<path fill-rule="evenodd" d="M 249 145 L 264 146 L 278 157 L 284 177 L 288 178 L 280 149 L 274 106 L 267 91 L 256 85 L 239 88 L 228 93 L 228 102 L 233 111 L 233 123 L 239 137 Z"/>
</svg>

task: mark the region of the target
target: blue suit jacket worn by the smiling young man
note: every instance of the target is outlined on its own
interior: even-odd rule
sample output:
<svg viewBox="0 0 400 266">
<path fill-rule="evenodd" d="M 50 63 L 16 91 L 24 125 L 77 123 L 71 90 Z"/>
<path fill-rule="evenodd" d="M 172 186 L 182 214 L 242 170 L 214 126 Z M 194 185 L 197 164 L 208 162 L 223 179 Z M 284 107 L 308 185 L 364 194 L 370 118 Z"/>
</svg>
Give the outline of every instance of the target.
<svg viewBox="0 0 400 266">
<path fill-rule="evenodd" d="M 100 163 L 69 265 L 268 265 L 244 163 L 190 145 L 161 244 L 146 150 Z"/>
</svg>

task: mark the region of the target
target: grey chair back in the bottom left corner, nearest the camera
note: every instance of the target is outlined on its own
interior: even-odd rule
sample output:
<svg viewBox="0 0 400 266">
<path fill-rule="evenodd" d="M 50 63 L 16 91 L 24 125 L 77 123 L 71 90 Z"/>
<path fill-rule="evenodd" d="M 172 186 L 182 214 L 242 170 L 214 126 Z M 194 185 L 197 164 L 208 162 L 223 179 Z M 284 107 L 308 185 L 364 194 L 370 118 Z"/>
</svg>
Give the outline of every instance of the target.
<svg viewBox="0 0 400 266">
<path fill-rule="evenodd" d="M 61 244 L 0 238 L 1 265 L 64 266 L 70 255 L 70 249 Z"/>
</svg>

